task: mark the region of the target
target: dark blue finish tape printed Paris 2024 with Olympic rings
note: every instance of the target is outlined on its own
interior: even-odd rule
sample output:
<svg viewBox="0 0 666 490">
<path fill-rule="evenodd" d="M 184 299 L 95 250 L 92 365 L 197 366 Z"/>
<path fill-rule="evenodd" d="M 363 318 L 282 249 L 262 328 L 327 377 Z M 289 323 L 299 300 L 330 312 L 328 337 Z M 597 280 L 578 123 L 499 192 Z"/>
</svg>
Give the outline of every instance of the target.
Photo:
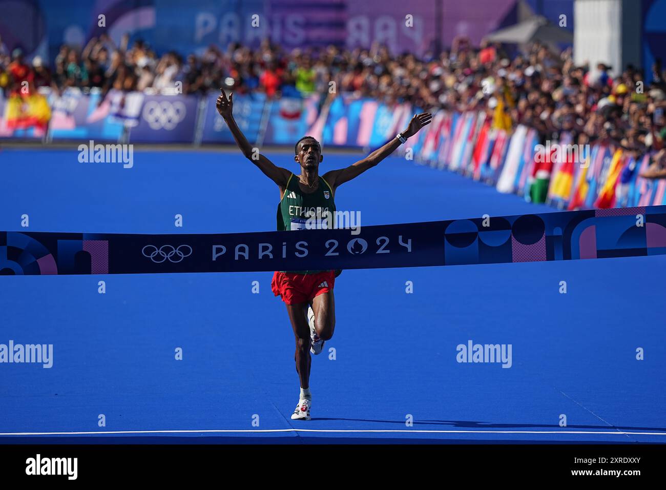
<svg viewBox="0 0 666 490">
<path fill-rule="evenodd" d="M 666 254 L 666 206 L 218 235 L 0 232 L 0 275 L 374 269 Z"/>
</svg>

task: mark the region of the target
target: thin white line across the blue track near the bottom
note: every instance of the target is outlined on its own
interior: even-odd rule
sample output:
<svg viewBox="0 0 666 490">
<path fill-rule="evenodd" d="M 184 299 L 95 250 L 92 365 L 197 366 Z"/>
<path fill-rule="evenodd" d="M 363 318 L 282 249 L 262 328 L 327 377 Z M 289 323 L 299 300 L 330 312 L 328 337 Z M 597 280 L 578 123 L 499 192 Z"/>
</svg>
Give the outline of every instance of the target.
<svg viewBox="0 0 666 490">
<path fill-rule="evenodd" d="M 609 435 L 666 435 L 666 432 L 621 432 L 621 431 L 427 431 L 406 429 L 207 429 L 202 431 L 99 431 L 99 432 L 0 432 L 1 435 L 107 435 L 107 434 L 200 434 L 200 433 L 276 433 L 276 432 L 320 432 L 320 433 L 429 433 L 429 434 L 609 434 Z"/>
</svg>

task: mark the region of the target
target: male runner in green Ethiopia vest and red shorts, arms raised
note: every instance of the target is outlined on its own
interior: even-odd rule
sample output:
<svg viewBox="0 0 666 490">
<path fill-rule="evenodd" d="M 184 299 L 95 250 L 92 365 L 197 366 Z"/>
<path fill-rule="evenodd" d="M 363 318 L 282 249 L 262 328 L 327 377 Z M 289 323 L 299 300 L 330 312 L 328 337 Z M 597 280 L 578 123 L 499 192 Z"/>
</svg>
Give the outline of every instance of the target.
<svg viewBox="0 0 666 490">
<path fill-rule="evenodd" d="M 396 135 L 380 149 L 370 153 L 345 169 L 331 170 L 319 176 L 322 162 L 321 147 L 313 137 L 306 136 L 296 143 L 294 161 L 300 165 L 300 175 L 282 167 L 276 167 L 264 155 L 252 149 L 238 128 L 232 113 L 234 95 L 222 93 L 217 98 L 218 113 L 224 118 L 243 155 L 280 187 L 278 205 L 278 231 L 306 228 L 310 210 L 320 208 L 321 215 L 332 216 L 335 211 L 336 189 L 393 153 L 407 138 L 428 125 L 432 115 L 414 115 L 408 128 Z M 254 156 L 254 158 L 253 158 Z M 325 210 L 325 211 L 324 211 Z M 327 223 L 330 225 L 330 223 Z M 331 226 L 329 226 L 331 227 Z M 296 337 L 296 371 L 300 378 L 300 397 L 292 419 L 310 420 L 310 352 L 318 354 L 324 341 L 333 336 L 335 329 L 335 303 L 333 286 L 335 271 L 282 271 L 273 275 L 271 288 L 286 304 L 289 320 Z"/>
</svg>

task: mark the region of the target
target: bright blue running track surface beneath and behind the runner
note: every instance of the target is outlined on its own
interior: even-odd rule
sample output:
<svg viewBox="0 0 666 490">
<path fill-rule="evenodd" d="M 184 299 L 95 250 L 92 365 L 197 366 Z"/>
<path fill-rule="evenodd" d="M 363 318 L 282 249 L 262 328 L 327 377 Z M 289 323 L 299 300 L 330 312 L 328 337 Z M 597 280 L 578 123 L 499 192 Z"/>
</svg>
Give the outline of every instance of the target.
<svg viewBox="0 0 666 490">
<path fill-rule="evenodd" d="M 322 173 L 358 158 L 324 155 Z M 236 152 L 136 151 L 123 169 L 0 151 L 0 230 L 27 214 L 30 231 L 272 231 L 278 200 Z M 336 205 L 362 225 L 553 211 L 400 158 Z M 664 443 L 665 272 L 665 256 L 344 271 L 307 422 L 290 420 L 294 339 L 271 273 L 0 276 L 0 343 L 54 349 L 51 369 L 0 364 L 0 442 Z M 511 367 L 458 363 L 469 340 L 511 344 Z"/>
</svg>

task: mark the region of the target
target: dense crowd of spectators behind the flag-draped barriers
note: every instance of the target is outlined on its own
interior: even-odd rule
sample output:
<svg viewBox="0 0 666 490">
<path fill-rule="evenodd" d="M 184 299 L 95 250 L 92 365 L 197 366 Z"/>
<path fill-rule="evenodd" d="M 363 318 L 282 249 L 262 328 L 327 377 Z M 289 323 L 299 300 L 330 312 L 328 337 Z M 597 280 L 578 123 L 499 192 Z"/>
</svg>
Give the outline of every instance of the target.
<svg viewBox="0 0 666 490">
<path fill-rule="evenodd" d="M 371 49 L 294 49 L 266 40 L 256 49 L 232 43 L 211 45 L 202 55 L 176 52 L 158 56 L 147 43 L 129 36 L 115 45 L 107 35 L 77 50 L 63 45 L 47 67 L 31 63 L 20 50 L 8 53 L 0 40 L 0 88 L 16 93 L 20 82 L 31 87 L 99 87 L 124 91 L 206 93 L 224 87 L 236 93 L 262 92 L 267 97 L 320 93 L 355 93 L 384 103 L 410 102 L 424 110 L 487 111 L 493 125 L 511 131 L 517 124 L 537 129 L 542 139 L 570 131 L 578 144 L 604 140 L 637 156 L 655 154 L 647 177 L 666 176 L 666 72 L 645 73 L 625 67 L 575 65 L 571 50 L 556 53 L 539 44 L 507 55 L 500 45 L 474 47 L 465 38 L 451 49 L 417 57 L 392 55 L 382 45 Z M 335 90 L 331 94 L 331 82 Z"/>
</svg>

